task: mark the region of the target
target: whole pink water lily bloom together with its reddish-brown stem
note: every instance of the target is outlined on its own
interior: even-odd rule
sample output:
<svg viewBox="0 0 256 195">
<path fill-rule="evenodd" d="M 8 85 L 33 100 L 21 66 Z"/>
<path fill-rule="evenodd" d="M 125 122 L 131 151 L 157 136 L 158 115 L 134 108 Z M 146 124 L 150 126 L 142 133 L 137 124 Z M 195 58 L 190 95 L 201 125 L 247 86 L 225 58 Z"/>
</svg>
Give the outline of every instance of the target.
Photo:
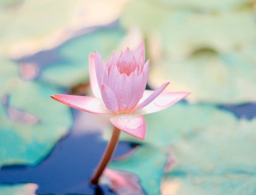
<svg viewBox="0 0 256 195">
<path fill-rule="evenodd" d="M 156 90 L 145 90 L 149 64 L 149 60 L 145 63 L 143 42 L 133 53 L 128 47 L 119 57 L 113 52 L 107 63 L 95 51 L 89 55 L 90 84 L 95 97 L 62 94 L 51 97 L 78 110 L 110 115 L 109 120 L 115 128 L 106 152 L 114 150 L 120 130 L 145 139 L 146 121 L 142 115 L 161 111 L 189 94 L 185 91 L 163 92 L 169 82 Z M 108 158 L 109 155 L 112 153 Z"/>
</svg>

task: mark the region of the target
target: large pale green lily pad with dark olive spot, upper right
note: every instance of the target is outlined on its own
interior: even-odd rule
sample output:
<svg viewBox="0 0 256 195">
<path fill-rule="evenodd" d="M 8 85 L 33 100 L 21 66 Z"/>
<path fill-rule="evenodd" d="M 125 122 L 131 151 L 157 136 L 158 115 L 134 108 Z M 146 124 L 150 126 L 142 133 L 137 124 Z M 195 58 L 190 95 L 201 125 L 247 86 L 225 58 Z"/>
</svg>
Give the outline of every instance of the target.
<svg viewBox="0 0 256 195">
<path fill-rule="evenodd" d="M 171 5 L 176 1 L 164 2 Z M 223 3 L 218 2 L 204 4 Z M 137 26 L 146 38 L 152 62 L 150 87 L 170 81 L 169 90 L 192 91 L 188 100 L 193 102 L 254 101 L 255 10 L 248 1 L 239 2 L 239 9 L 216 13 L 182 6 L 170 9 L 152 1 L 128 4 L 121 23 L 125 27 Z M 180 3 L 188 7 L 191 4 Z"/>
</svg>

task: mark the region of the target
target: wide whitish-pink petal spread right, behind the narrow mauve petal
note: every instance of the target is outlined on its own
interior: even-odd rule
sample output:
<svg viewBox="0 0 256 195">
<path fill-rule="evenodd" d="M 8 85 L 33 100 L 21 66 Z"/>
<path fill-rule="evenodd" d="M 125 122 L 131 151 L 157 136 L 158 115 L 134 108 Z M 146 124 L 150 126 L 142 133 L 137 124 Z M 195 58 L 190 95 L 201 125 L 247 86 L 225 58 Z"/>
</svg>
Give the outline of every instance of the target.
<svg viewBox="0 0 256 195">
<path fill-rule="evenodd" d="M 145 90 L 141 100 L 147 99 L 153 93 L 154 93 L 153 90 Z M 185 98 L 189 94 L 190 92 L 186 92 L 186 91 L 162 92 L 150 104 L 148 104 L 147 106 L 145 106 L 140 110 L 137 110 L 136 113 L 143 115 L 143 114 L 149 114 L 149 113 L 164 110 L 165 108 L 168 108 L 169 106 Z"/>
</svg>

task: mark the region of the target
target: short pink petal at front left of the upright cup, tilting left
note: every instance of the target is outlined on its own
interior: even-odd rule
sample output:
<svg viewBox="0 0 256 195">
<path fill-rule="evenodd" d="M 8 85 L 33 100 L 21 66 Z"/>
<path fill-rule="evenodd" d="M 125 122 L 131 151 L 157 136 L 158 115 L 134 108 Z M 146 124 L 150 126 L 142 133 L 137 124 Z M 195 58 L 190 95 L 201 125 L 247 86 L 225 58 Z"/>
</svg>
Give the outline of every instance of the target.
<svg viewBox="0 0 256 195">
<path fill-rule="evenodd" d="M 118 112 L 118 104 L 114 92 L 105 84 L 101 85 L 101 96 L 108 110 Z"/>
</svg>

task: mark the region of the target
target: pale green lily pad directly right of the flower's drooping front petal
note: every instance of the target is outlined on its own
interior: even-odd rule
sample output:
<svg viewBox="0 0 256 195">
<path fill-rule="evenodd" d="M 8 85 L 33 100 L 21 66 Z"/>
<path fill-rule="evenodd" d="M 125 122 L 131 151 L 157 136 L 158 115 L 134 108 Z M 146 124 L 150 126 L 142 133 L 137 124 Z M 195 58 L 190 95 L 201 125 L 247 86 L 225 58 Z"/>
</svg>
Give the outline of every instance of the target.
<svg viewBox="0 0 256 195">
<path fill-rule="evenodd" d="M 147 114 L 144 117 L 147 122 L 145 140 L 139 140 L 123 132 L 120 140 L 169 148 L 182 138 L 206 131 L 209 126 L 235 127 L 238 124 L 235 115 L 221 111 L 216 106 L 186 103 L 177 103 L 163 111 Z M 110 129 L 111 127 L 109 131 L 104 131 L 104 138 L 109 139 Z"/>
</svg>

